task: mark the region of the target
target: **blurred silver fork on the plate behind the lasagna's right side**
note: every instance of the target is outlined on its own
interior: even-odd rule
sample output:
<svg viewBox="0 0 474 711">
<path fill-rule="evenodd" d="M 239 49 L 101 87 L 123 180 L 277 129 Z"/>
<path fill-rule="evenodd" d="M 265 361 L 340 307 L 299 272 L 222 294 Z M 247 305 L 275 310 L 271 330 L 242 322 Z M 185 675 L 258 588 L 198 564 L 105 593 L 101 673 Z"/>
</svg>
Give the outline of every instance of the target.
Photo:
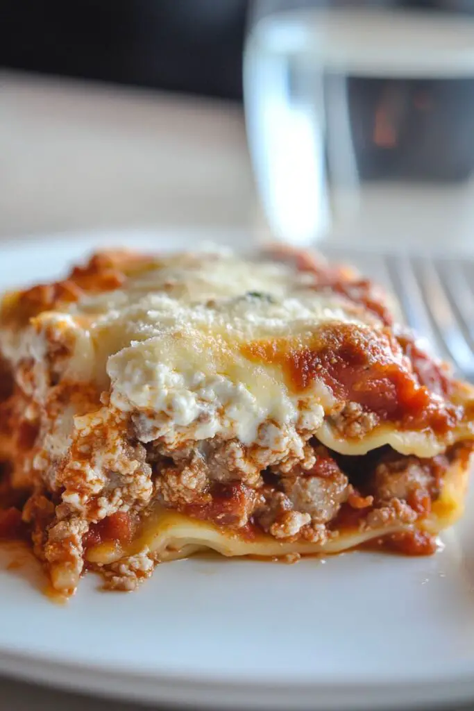
<svg viewBox="0 0 474 711">
<path fill-rule="evenodd" d="M 474 383 L 474 260 L 380 254 L 336 247 L 330 260 L 355 264 L 397 296 L 406 324 Z"/>
</svg>

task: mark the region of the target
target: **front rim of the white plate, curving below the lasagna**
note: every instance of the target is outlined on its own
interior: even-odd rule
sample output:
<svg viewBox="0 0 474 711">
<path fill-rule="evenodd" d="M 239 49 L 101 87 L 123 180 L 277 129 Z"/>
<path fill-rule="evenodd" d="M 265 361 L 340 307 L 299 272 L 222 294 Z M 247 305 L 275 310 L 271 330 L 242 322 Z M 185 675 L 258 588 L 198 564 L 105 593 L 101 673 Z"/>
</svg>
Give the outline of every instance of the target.
<svg viewBox="0 0 474 711">
<path fill-rule="evenodd" d="M 25 658 L 0 650 L 1 675 L 11 678 L 50 685 L 55 688 L 77 691 L 99 697 L 121 700 L 138 700 L 145 703 L 167 703 L 217 709 L 287 710 L 289 704 L 298 710 L 318 711 L 350 709 L 351 711 L 375 710 L 381 707 L 401 709 L 436 703 L 460 703 L 472 700 L 474 679 L 456 680 L 456 685 L 446 680 L 429 680 L 420 683 L 374 684 L 295 684 L 274 683 L 227 683 L 216 680 L 172 678 L 170 675 L 137 675 L 122 673 L 122 670 L 85 668 L 68 663 L 50 663 L 36 658 Z"/>
</svg>

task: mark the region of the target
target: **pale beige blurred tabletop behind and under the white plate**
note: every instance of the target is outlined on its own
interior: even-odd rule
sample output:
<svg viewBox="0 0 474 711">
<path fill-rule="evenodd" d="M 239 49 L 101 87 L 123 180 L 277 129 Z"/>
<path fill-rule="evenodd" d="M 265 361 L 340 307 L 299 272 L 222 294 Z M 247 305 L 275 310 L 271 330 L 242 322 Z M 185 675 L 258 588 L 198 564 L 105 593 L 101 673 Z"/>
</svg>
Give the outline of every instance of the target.
<svg viewBox="0 0 474 711">
<path fill-rule="evenodd" d="M 0 240 L 265 229 L 238 106 L 17 73 L 0 86 Z M 16 711 L 139 709 L 13 680 L 0 698 Z"/>
</svg>

